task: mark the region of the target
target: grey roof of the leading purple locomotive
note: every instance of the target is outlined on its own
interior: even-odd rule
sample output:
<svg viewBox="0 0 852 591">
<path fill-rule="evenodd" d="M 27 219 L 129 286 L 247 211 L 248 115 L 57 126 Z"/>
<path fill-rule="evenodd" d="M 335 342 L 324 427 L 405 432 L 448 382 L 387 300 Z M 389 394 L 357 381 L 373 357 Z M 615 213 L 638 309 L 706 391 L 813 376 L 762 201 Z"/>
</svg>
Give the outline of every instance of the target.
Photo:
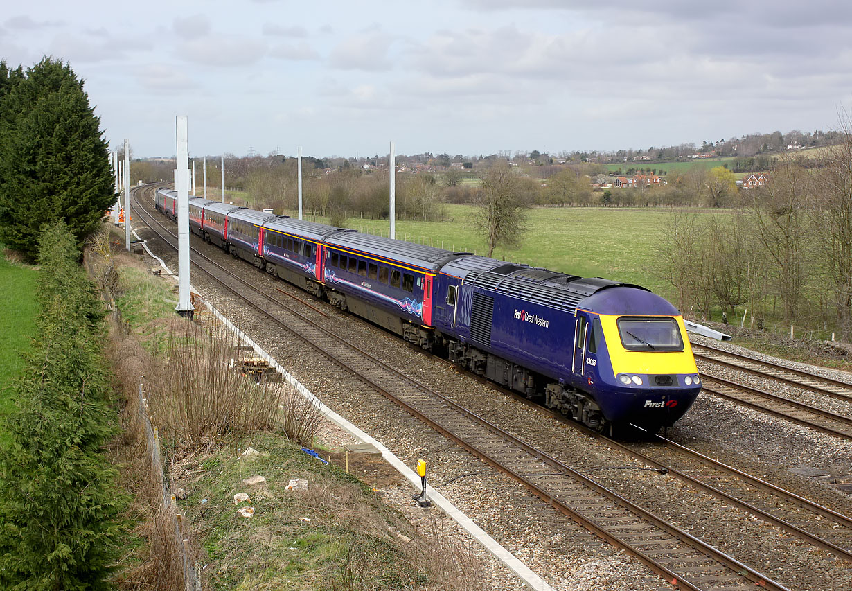
<svg viewBox="0 0 852 591">
<path fill-rule="evenodd" d="M 476 287 L 481 287 L 488 291 L 505 293 L 515 298 L 525 299 L 535 304 L 542 304 L 560 310 L 567 310 L 571 313 L 577 310 L 577 307 L 582 302 L 585 310 L 598 311 L 602 314 L 624 314 L 623 310 L 625 306 L 623 302 L 619 303 L 618 306 L 615 305 L 616 300 L 620 302 L 620 298 L 590 299 L 590 296 L 613 287 L 627 287 L 633 292 L 648 293 L 653 296 L 653 293 L 648 292 L 644 287 L 621 283 L 619 281 L 610 281 L 600 277 L 567 275 L 538 267 L 504 263 L 503 261 L 485 257 L 459 258 L 456 261 L 452 261 L 451 264 L 447 264 L 441 270 L 450 275 L 460 276 L 464 281 L 469 281 Z M 619 295 L 623 298 L 625 293 L 621 292 Z M 659 296 L 653 297 L 665 302 L 665 299 Z M 589 308 L 586 301 L 587 298 L 593 305 L 596 305 L 596 308 L 600 308 L 600 310 Z M 668 304 L 668 302 L 665 303 Z M 671 306 L 671 304 L 669 305 Z M 616 310 L 616 308 L 618 308 L 618 312 L 609 311 Z M 648 314 L 648 310 L 645 310 L 643 314 Z"/>
</svg>

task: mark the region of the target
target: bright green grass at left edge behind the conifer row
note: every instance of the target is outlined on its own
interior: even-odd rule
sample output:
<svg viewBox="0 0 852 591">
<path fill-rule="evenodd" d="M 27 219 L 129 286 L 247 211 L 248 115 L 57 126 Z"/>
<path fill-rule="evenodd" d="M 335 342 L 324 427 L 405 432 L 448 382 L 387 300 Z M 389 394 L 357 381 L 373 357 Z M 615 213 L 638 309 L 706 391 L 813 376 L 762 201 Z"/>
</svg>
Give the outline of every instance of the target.
<svg viewBox="0 0 852 591">
<path fill-rule="evenodd" d="M 24 367 L 20 354 L 30 348 L 36 333 L 36 271 L 0 258 L 0 290 L 6 294 L 0 314 L 0 414 L 8 414 L 14 402 L 7 386 Z M 5 437 L 0 433 L 2 441 Z"/>
</svg>

